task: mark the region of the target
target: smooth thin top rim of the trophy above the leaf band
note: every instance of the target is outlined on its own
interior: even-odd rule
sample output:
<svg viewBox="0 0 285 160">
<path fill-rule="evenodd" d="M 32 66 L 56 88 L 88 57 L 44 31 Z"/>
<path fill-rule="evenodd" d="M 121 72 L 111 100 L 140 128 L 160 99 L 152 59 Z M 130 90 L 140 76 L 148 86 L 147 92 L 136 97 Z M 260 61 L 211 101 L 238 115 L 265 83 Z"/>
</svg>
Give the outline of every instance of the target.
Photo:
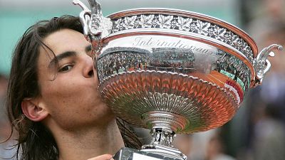
<svg viewBox="0 0 285 160">
<path fill-rule="evenodd" d="M 107 17 L 114 19 L 114 18 L 122 18 L 125 16 L 134 16 L 138 14 L 172 14 L 175 16 L 186 16 L 189 18 L 199 18 L 201 20 L 217 24 L 219 26 L 227 28 L 229 31 L 236 33 L 238 36 L 244 39 L 244 41 L 249 43 L 249 46 L 252 48 L 254 58 L 257 58 L 257 54 L 258 54 L 257 43 L 254 41 L 254 39 L 251 36 L 249 36 L 247 32 L 243 31 L 241 28 L 237 26 L 234 26 L 231 23 L 228 23 L 227 21 L 223 21 L 219 18 L 208 16 L 206 14 L 199 14 L 194 11 L 186 11 L 186 10 L 181 10 L 181 9 L 138 8 L 138 9 L 127 9 L 123 11 L 118 11 L 118 12 L 108 15 Z"/>
</svg>

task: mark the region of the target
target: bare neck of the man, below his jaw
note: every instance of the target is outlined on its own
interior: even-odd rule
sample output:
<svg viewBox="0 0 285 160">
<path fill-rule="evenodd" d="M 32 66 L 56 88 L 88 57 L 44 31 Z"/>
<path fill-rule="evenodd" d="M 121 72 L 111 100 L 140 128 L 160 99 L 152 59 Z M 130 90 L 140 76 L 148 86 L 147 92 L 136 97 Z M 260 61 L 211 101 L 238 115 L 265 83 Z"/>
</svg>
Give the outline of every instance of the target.
<svg viewBox="0 0 285 160">
<path fill-rule="evenodd" d="M 59 160 L 90 159 L 102 154 L 115 154 L 124 146 L 115 122 L 93 127 L 84 132 L 63 132 L 56 137 Z"/>
</svg>

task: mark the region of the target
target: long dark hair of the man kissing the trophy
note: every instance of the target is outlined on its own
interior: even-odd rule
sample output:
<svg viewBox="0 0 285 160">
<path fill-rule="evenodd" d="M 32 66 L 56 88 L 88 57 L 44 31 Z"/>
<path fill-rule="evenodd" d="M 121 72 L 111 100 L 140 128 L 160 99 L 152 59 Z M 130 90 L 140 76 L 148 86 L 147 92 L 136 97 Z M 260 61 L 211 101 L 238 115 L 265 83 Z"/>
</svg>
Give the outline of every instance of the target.
<svg viewBox="0 0 285 160">
<path fill-rule="evenodd" d="M 13 134 L 14 129 L 18 132 L 16 159 L 58 159 L 58 147 L 53 135 L 41 122 L 33 122 L 23 114 L 21 102 L 26 97 L 38 97 L 40 95 L 41 88 L 38 85 L 37 70 L 39 47 L 46 46 L 43 43 L 43 38 L 63 28 L 83 33 L 79 18 L 74 16 L 61 16 L 52 18 L 50 21 L 39 21 L 28 28 L 14 50 L 6 107 L 11 122 L 11 134 Z M 134 134 L 131 127 L 118 118 L 117 124 L 125 146 L 139 149 L 141 146 L 140 139 Z"/>
</svg>

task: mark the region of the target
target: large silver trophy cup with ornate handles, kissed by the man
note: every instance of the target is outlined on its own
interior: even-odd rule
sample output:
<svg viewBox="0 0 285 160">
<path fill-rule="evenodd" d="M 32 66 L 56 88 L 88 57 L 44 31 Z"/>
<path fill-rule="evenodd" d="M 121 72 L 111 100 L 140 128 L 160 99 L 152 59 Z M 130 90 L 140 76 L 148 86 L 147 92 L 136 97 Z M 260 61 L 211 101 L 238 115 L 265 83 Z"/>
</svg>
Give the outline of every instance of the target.
<svg viewBox="0 0 285 160">
<path fill-rule="evenodd" d="M 217 18 L 173 9 L 133 9 L 102 16 L 100 4 L 81 1 L 86 39 L 94 48 L 99 92 L 130 124 L 150 129 L 140 151 L 123 148 L 114 159 L 179 159 L 175 134 L 228 122 L 250 87 L 261 84 L 268 56 L 241 29 Z"/>
</svg>

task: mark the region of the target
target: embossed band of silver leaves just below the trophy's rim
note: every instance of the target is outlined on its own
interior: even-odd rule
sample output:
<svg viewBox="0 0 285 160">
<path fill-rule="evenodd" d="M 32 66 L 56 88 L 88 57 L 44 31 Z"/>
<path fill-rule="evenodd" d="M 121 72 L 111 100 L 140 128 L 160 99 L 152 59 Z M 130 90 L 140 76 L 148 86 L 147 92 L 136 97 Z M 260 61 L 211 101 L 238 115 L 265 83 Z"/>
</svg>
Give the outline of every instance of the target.
<svg viewBox="0 0 285 160">
<path fill-rule="evenodd" d="M 132 19 L 132 26 L 128 26 Z M 215 38 L 218 41 L 225 42 L 237 50 L 240 50 L 252 62 L 254 59 L 253 53 L 247 41 L 244 41 L 240 36 L 232 31 L 223 28 L 214 23 L 202 21 L 197 18 L 188 18 L 183 16 L 168 16 L 164 14 L 126 16 L 124 18 L 115 19 L 112 33 L 124 31 L 134 28 L 168 28 L 190 33 L 197 33 L 203 36 Z"/>
</svg>

